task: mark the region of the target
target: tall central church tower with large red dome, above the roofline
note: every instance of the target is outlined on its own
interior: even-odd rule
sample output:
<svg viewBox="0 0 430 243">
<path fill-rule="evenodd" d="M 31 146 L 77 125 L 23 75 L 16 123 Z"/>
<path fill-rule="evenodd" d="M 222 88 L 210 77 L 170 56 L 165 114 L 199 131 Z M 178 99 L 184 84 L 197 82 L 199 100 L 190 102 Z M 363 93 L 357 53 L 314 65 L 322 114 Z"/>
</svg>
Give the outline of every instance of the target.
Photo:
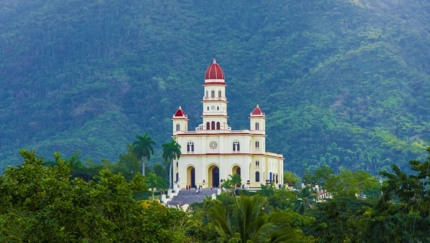
<svg viewBox="0 0 430 243">
<path fill-rule="evenodd" d="M 203 96 L 203 124 L 200 130 L 231 130 L 227 124 L 227 98 L 224 71 L 215 58 L 205 73 Z"/>
</svg>

